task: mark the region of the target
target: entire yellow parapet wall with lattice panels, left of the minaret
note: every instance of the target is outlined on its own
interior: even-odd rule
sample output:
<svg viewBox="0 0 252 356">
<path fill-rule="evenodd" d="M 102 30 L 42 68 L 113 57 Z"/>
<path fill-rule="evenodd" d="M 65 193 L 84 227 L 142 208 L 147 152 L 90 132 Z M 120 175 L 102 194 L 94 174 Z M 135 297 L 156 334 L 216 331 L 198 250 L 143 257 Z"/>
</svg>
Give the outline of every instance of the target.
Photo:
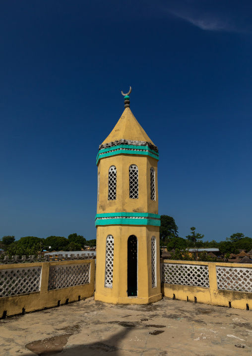
<svg viewBox="0 0 252 356">
<path fill-rule="evenodd" d="M 95 260 L 0 265 L 0 318 L 94 295 Z"/>
</svg>

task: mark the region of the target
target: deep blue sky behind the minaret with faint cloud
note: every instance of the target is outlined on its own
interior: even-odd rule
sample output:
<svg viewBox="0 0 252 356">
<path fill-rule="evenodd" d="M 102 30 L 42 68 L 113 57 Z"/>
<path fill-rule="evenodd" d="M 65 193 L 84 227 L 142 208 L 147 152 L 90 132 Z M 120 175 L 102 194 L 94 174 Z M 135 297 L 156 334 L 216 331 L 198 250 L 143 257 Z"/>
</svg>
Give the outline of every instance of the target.
<svg viewBox="0 0 252 356">
<path fill-rule="evenodd" d="M 252 1 L 3 0 L 0 237 L 95 238 L 98 146 L 130 109 L 159 213 L 252 237 Z"/>
</svg>

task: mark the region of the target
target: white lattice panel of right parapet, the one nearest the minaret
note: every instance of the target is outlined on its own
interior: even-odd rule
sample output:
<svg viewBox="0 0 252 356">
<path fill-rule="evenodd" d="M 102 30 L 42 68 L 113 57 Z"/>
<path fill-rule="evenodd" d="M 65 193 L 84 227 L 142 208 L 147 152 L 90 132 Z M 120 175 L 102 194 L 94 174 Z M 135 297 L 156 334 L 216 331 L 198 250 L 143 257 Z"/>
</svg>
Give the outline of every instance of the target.
<svg viewBox="0 0 252 356">
<path fill-rule="evenodd" d="M 208 267 L 180 263 L 162 263 L 162 282 L 209 288 Z"/>
</svg>

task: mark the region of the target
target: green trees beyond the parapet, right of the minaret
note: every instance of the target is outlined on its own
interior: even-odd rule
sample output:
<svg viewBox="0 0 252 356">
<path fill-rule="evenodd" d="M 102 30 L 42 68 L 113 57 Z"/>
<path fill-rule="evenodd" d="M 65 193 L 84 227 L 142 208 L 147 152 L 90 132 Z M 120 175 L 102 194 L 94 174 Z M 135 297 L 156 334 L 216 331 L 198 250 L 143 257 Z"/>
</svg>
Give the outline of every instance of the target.
<svg viewBox="0 0 252 356">
<path fill-rule="evenodd" d="M 250 251 L 252 249 L 252 238 L 242 233 L 236 233 L 225 240 L 217 242 L 215 240 L 202 241 L 204 235 L 196 233 L 195 227 L 190 228 L 190 234 L 186 238 L 179 237 L 178 226 L 174 218 L 168 215 L 161 215 L 160 245 L 167 246 L 168 251 L 172 249 L 185 250 L 186 248 L 218 248 L 223 255 L 239 253 L 239 249 Z"/>
</svg>

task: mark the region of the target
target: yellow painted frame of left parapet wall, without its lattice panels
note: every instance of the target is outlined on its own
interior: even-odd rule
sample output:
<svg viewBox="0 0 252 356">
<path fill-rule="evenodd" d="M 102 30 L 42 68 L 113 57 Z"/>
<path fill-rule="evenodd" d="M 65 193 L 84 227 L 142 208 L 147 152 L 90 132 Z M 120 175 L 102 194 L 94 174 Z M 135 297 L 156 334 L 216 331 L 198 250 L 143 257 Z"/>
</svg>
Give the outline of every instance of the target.
<svg viewBox="0 0 252 356">
<path fill-rule="evenodd" d="M 90 283 L 48 291 L 50 266 L 65 266 L 83 263 L 90 263 Z M 12 268 L 21 269 L 35 266 L 42 266 L 40 291 L 10 297 L 0 297 L 0 317 L 2 317 L 4 311 L 7 311 L 7 316 L 10 316 L 22 313 L 22 308 L 25 308 L 25 311 L 29 312 L 56 306 L 58 305 L 58 300 L 61 301 L 61 304 L 65 304 L 67 298 L 69 299 L 69 302 L 71 302 L 78 300 L 78 296 L 83 299 L 92 297 L 94 294 L 95 260 L 93 259 L 0 265 L 0 270 Z"/>
</svg>

